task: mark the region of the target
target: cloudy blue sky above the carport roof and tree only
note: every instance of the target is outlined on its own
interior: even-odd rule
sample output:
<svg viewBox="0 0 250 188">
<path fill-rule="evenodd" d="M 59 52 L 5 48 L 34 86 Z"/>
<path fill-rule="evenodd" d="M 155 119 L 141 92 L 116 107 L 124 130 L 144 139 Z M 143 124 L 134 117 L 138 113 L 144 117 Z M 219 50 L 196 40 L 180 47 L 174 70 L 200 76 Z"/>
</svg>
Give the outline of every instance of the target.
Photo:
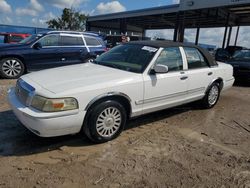
<svg viewBox="0 0 250 188">
<path fill-rule="evenodd" d="M 46 27 L 63 8 L 98 15 L 169 5 L 178 0 L 0 0 L 0 24 Z"/>
</svg>

